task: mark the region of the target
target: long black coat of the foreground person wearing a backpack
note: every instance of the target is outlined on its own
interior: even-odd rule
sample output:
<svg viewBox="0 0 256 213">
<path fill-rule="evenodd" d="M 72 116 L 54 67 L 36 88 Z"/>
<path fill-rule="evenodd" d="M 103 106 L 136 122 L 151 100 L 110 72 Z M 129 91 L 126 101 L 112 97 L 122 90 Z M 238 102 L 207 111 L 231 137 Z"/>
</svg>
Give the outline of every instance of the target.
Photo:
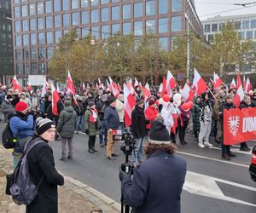
<svg viewBox="0 0 256 213">
<path fill-rule="evenodd" d="M 42 141 L 27 154 L 32 180 L 37 185 L 42 176 L 44 179 L 38 189 L 38 196 L 26 206 L 26 213 L 58 212 L 57 185 L 62 186 L 64 178 L 55 169 L 55 159 L 51 147 L 43 139 Z"/>
</svg>

